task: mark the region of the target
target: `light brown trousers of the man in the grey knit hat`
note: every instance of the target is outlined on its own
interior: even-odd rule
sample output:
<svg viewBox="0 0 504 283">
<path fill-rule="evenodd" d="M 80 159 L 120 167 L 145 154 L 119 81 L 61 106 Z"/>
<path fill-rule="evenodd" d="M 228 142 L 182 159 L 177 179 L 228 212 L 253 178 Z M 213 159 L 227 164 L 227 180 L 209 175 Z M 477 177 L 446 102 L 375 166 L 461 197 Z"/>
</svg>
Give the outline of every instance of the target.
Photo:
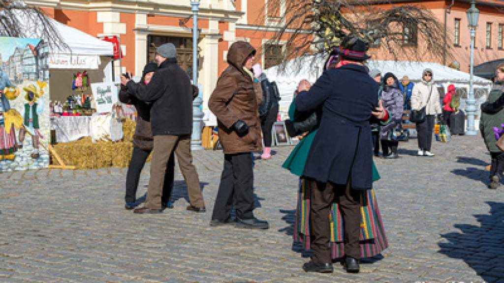
<svg viewBox="0 0 504 283">
<path fill-rule="evenodd" d="M 145 206 L 150 209 L 161 209 L 166 164 L 171 153 L 175 151 L 180 172 L 187 185 L 189 201 L 193 206 L 203 208 L 205 201 L 201 193 L 200 180 L 191 155 L 191 135 L 155 135 L 151 162 L 151 177 L 147 189 Z"/>
</svg>

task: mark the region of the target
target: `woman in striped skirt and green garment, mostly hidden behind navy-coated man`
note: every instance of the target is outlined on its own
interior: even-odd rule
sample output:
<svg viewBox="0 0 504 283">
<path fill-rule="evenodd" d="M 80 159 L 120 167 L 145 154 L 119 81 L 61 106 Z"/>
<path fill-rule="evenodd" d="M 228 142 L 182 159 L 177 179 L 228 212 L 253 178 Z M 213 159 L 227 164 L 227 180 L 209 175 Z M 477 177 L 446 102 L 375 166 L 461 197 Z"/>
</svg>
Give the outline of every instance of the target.
<svg viewBox="0 0 504 283">
<path fill-rule="evenodd" d="M 340 65 L 335 65 L 337 62 L 337 53 L 332 52 L 330 58 L 326 62 L 326 68 L 335 68 Z M 300 84 L 308 84 L 307 82 L 300 82 Z M 296 124 L 296 122 L 302 121 L 306 117 L 306 113 L 297 112 L 295 109 L 295 99 L 289 107 L 289 117 Z M 310 150 L 313 138 L 315 137 L 318 127 L 320 124 L 320 117 L 322 115 L 322 109 L 316 110 L 318 119 L 316 119 L 316 125 L 311 126 L 311 128 L 304 127 L 301 130 L 307 130 L 308 133 L 299 142 L 299 144 L 294 148 L 290 156 L 287 158 L 283 164 L 283 168 L 290 170 L 291 173 L 299 176 L 299 191 L 298 191 L 298 201 L 296 207 L 296 220 L 294 222 L 294 241 L 301 242 L 305 250 L 310 249 L 310 189 L 308 187 L 308 181 L 302 177 L 306 159 L 308 157 L 308 152 Z M 390 121 L 388 112 L 385 117 L 381 119 L 382 121 Z M 287 130 L 299 131 L 298 127 L 294 127 L 293 123 L 286 123 Z M 291 134 L 292 135 L 292 134 Z M 380 175 L 376 171 L 374 163 L 372 164 L 372 181 L 380 179 Z M 373 189 L 362 191 L 361 197 L 361 229 L 360 229 L 360 254 L 361 258 L 372 257 L 380 254 L 384 249 L 388 247 L 387 237 L 385 235 L 385 230 L 382 223 L 382 218 L 380 216 L 380 211 L 376 204 L 375 193 Z M 331 222 L 331 254 L 332 258 L 343 258 L 344 253 L 344 243 L 345 243 L 345 232 L 343 217 L 339 204 L 334 201 L 331 206 L 331 212 L 329 215 Z M 322 272 L 322 271 L 319 271 Z"/>
</svg>

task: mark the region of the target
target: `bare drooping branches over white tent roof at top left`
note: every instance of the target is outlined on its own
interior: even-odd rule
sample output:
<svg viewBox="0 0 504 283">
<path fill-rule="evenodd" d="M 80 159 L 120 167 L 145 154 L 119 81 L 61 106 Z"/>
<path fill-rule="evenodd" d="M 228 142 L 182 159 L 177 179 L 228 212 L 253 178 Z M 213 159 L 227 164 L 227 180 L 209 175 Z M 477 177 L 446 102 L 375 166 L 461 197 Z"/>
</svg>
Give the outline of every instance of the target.
<svg viewBox="0 0 504 283">
<path fill-rule="evenodd" d="M 0 0 L 0 36 L 39 38 L 52 50 L 69 49 L 53 21 L 23 1 Z"/>
</svg>

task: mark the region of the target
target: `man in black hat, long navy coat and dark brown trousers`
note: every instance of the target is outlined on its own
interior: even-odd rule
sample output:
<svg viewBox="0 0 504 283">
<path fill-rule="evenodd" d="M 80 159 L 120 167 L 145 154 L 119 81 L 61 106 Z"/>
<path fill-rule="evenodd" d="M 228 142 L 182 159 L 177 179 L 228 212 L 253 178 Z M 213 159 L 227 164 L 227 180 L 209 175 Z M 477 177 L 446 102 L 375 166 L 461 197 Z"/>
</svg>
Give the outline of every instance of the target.
<svg viewBox="0 0 504 283">
<path fill-rule="evenodd" d="M 324 72 L 308 90 L 302 87 L 296 110 L 313 111 L 322 105 L 322 120 L 313 139 L 303 176 L 311 192 L 312 260 L 305 271 L 332 272 L 329 214 L 333 199 L 341 207 L 345 230 L 345 268 L 359 271 L 360 201 L 371 188 L 371 129 L 369 121 L 379 107 L 379 85 L 362 61 L 365 43 L 343 40 L 337 68 Z M 382 108 L 376 116 L 383 118 Z"/>
</svg>

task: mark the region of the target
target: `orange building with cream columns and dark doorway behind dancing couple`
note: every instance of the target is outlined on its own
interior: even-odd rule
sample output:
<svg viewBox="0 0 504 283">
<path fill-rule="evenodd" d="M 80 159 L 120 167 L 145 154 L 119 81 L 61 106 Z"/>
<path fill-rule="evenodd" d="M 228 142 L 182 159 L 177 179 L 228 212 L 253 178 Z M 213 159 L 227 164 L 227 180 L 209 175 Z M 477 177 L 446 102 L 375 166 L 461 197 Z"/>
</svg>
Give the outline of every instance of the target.
<svg viewBox="0 0 504 283">
<path fill-rule="evenodd" d="M 278 52 L 261 54 L 275 32 L 272 23 L 279 20 L 279 15 L 265 14 L 268 1 L 278 0 L 201 0 L 198 80 L 204 108 L 220 73 L 227 67 L 227 50 L 233 42 L 250 42 L 258 49 L 256 58 L 263 66 L 274 65 L 281 59 L 281 45 L 275 49 Z M 154 59 L 155 48 L 165 42 L 176 45 L 179 64 L 192 74 L 191 0 L 29 0 L 27 3 L 92 36 L 118 36 L 124 57 L 120 68 L 119 62 L 115 62 L 116 76 L 127 70 L 141 75 L 144 65 Z M 275 13 L 281 13 L 282 7 L 277 10 Z"/>
</svg>

